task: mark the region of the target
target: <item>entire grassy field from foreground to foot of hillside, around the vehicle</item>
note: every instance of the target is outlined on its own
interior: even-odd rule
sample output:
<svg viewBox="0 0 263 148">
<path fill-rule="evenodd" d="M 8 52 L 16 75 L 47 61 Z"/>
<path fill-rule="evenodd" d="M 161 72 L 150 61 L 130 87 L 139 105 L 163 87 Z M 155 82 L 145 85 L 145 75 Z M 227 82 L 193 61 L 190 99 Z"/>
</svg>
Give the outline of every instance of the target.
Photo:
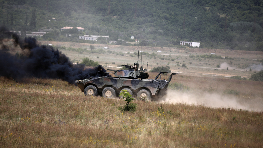
<svg viewBox="0 0 263 148">
<path fill-rule="evenodd" d="M 89 48 L 89 44 L 50 43 Z M 109 49 L 97 54 L 62 53 L 74 63 L 88 57 L 106 69 L 115 69 L 137 62 L 137 57 L 128 52 L 141 50 L 94 45 L 96 49 Z M 26 78 L 17 82 L 0 77 L 0 147 L 263 147 L 263 83 L 230 79 L 235 75 L 249 78 L 262 68 L 262 52 L 142 48 L 157 54 L 149 59 L 148 69 L 169 63 L 179 74 L 173 76 L 163 98 L 134 100 L 135 112 L 118 110 L 124 100 L 87 97 L 77 86 L 60 79 Z M 234 59 L 199 58 L 204 52 Z M 146 66 L 146 55 L 142 59 Z M 149 78 L 157 74 L 150 72 Z"/>
</svg>

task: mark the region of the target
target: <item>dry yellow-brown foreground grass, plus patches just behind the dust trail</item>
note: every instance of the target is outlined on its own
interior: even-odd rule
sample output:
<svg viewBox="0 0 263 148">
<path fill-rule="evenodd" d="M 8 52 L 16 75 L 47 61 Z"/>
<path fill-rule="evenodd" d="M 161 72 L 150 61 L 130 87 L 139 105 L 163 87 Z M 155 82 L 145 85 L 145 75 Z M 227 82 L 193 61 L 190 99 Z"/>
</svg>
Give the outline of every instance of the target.
<svg viewBox="0 0 263 148">
<path fill-rule="evenodd" d="M 208 88 L 207 81 L 223 85 L 237 83 L 223 80 L 193 76 L 173 78 L 173 82 L 188 85 L 190 91 Z M 240 82 L 239 86 L 242 85 Z M 255 92 L 259 85 L 246 84 Z M 236 85 L 228 87 L 238 89 Z M 135 112 L 122 114 L 117 108 L 125 104 L 124 100 L 87 97 L 75 85 L 61 80 L 32 78 L 14 82 L 0 77 L 0 146 L 263 146 L 263 112 L 184 103 L 134 103 L 138 106 Z"/>
</svg>

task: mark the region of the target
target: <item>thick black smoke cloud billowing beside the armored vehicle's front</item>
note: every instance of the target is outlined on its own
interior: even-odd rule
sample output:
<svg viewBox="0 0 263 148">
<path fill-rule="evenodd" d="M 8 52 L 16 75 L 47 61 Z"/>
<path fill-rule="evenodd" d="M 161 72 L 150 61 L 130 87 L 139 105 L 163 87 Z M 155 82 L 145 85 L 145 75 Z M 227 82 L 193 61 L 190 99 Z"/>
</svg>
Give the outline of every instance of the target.
<svg viewBox="0 0 263 148">
<path fill-rule="evenodd" d="M 78 79 L 109 76 L 101 65 L 85 69 L 84 65 L 73 65 L 69 58 L 61 51 L 51 46 L 38 45 L 35 38 L 19 39 L 16 34 L 0 30 L 0 75 L 17 81 L 22 78 L 59 78 L 71 84 Z M 20 46 L 27 55 L 18 56 L 10 54 L 10 49 L 4 46 L 3 38 L 12 37 L 14 45 Z"/>
</svg>

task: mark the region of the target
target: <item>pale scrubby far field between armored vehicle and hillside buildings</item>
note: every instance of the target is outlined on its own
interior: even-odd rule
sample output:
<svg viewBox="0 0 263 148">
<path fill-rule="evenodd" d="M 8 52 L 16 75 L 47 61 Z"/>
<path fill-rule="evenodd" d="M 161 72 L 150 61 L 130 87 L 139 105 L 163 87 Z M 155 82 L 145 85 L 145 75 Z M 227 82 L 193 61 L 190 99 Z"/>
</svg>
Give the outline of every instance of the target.
<svg viewBox="0 0 263 148">
<path fill-rule="evenodd" d="M 65 42 L 47 42 L 42 41 L 42 44 L 52 43 L 56 47 L 73 47 L 89 49 L 91 44 L 81 43 L 65 43 Z M 89 58 L 94 61 L 98 61 L 103 66 L 118 67 L 119 65 L 125 65 L 127 63 L 133 64 L 137 62 L 137 55 L 128 54 L 127 52 L 138 52 L 142 50 L 148 53 L 156 53 L 155 58 L 150 58 L 148 62 L 148 69 L 152 69 L 157 66 L 166 66 L 169 64 L 173 72 L 181 73 L 183 75 L 199 75 L 212 77 L 223 76 L 231 77 L 239 75 L 245 78 L 249 78 L 251 74 L 263 70 L 262 62 L 263 52 L 260 51 L 233 51 L 223 49 L 192 49 L 192 48 L 161 48 L 161 47 L 132 47 L 132 46 L 118 46 L 118 45 L 103 45 L 93 44 L 96 49 L 108 47 L 104 49 L 105 53 L 88 53 L 88 52 L 76 52 L 62 50 L 66 56 L 68 56 L 73 63 L 81 63 L 83 58 Z M 112 51 L 111 53 L 106 51 Z M 157 52 L 161 50 L 162 52 Z M 117 55 L 116 52 L 123 53 Z M 200 57 L 190 58 L 189 55 L 204 55 L 211 52 L 220 55 L 223 59 L 204 59 Z M 133 55 L 133 57 L 131 57 Z M 228 56 L 227 59 L 225 57 Z M 97 58 L 98 57 L 98 58 Z M 232 59 L 231 59 L 232 58 Z M 147 65 L 147 56 L 143 55 L 139 57 L 139 64 Z M 174 61 L 172 61 L 174 59 Z M 186 67 L 182 64 L 185 63 Z M 220 64 L 220 68 L 217 65 Z M 229 70 L 227 70 L 227 67 Z M 251 70 L 250 70 L 251 69 Z M 181 75 L 180 74 L 180 75 Z"/>
</svg>

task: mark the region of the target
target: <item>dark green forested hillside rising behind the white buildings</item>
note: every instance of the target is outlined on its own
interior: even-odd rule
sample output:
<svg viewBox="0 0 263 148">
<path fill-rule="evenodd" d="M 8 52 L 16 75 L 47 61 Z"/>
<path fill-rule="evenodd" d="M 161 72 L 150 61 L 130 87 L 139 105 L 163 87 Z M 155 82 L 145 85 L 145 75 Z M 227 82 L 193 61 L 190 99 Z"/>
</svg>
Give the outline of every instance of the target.
<svg viewBox="0 0 263 148">
<path fill-rule="evenodd" d="M 201 48 L 263 51 L 261 0 L 1 0 L 0 17 L 10 30 L 53 29 L 45 40 L 83 42 L 80 33 L 67 38 L 60 31 L 72 26 L 110 40 L 158 40 L 162 47 L 184 40 Z"/>
</svg>

